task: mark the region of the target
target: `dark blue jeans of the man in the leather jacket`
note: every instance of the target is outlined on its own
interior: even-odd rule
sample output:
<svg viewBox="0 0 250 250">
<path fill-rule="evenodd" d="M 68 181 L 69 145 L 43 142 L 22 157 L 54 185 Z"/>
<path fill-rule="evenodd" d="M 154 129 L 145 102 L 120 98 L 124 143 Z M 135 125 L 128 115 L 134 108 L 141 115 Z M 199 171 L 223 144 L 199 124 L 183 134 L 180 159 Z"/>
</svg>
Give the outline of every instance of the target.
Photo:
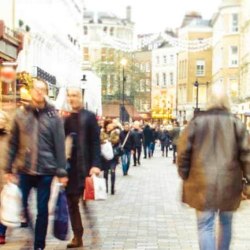
<svg viewBox="0 0 250 250">
<path fill-rule="evenodd" d="M 20 175 L 19 186 L 22 191 L 22 202 L 24 208 L 24 214 L 28 224 L 33 228 L 28 213 L 28 198 L 30 190 L 37 188 L 37 217 L 35 224 L 35 241 L 34 248 L 45 248 L 45 239 L 48 227 L 48 202 L 50 198 L 50 187 L 53 176 L 50 175 Z"/>
</svg>

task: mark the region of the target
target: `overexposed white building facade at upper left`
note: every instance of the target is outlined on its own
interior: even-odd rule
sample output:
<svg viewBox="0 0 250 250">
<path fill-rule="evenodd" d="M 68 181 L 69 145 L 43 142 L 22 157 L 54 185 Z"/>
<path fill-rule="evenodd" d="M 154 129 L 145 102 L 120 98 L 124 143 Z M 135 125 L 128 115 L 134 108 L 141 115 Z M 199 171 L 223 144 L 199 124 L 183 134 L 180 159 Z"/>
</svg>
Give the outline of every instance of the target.
<svg viewBox="0 0 250 250">
<path fill-rule="evenodd" d="M 82 0 L 16 1 L 16 25 L 24 35 L 17 70 L 46 80 L 52 98 L 59 87 L 80 85 L 82 16 Z"/>
</svg>

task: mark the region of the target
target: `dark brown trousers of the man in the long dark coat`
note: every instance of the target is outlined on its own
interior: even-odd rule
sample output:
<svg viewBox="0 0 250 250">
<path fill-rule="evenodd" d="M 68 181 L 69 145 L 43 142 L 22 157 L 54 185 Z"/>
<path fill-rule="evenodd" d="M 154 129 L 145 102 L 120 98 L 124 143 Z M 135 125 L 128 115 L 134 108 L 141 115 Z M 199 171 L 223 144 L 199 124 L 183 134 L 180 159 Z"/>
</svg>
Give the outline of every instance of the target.
<svg viewBox="0 0 250 250">
<path fill-rule="evenodd" d="M 79 203 L 81 199 L 82 194 L 67 194 L 71 226 L 74 233 L 74 237 L 76 238 L 82 238 L 83 236 L 83 226 L 79 208 Z"/>
</svg>

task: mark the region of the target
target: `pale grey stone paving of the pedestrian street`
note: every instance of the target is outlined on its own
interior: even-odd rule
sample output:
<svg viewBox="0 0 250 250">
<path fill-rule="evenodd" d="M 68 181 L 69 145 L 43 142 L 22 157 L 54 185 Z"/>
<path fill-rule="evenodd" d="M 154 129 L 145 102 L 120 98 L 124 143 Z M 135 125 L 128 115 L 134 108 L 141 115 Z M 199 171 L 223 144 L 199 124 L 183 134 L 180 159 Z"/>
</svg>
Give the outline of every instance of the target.
<svg viewBox="0 0 250 250">
<path fill-rule="evenodd" d="M 131 166 L 128 176 L 119 166 L 116 194 L 83 208 L 84 247 L 78 249 L 198 250 L 195 213 L 181 204 L 180 185 L 172 158 L 163 158 L 158 147 L 154 158 Z M 32 249 L 28 229 L 9 231 L 7 241 L 0 250 Z M 49 230 L 46 250 L 66 249 L 66 244 Z M 248 201 L 235 214 L 231 249 L 250 250 Z"/>
</svg>

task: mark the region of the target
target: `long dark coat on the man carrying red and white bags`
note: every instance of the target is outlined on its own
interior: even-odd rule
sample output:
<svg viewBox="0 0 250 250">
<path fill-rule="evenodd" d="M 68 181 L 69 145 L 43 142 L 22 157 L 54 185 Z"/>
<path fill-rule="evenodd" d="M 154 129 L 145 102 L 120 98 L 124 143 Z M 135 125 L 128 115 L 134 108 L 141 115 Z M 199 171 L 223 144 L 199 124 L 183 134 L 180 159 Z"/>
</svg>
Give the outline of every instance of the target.
<svg viewBox="0 0 250 250">
<path fill-rule="evenodd" d="M 65 128 L 70 119 L 70 116 L 65 119 Z M 101 168 L 100 129 L 95 114 L 85 109 L 80 110 L 76 122 L 76 152 L 70 160 L 67 192 L 80 194 L 91 167 Z M 66 136 L 70 133 L 71 131 L 66 129 Z"/>
</svg>

